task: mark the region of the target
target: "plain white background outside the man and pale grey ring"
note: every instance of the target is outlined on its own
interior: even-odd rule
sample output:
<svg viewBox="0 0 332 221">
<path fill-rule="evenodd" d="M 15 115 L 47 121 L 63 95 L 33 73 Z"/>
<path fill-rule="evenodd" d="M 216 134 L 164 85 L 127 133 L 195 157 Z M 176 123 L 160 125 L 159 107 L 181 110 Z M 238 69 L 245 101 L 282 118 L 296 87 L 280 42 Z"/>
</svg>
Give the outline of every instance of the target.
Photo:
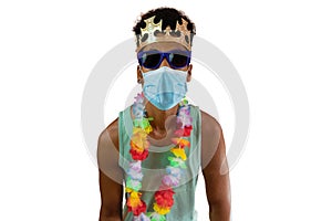
<svg viewBox="0 0 332 221">
<path fill-rule="evenodd" d="M 84 84 L 132 36 L 139 12 L 159 6 L 184 10 L 246 86 L 251 124 L 230 173 L 234 220 L 331 220 L 328 0 L 1 1 L 0 220 L 97 220 L 97 169 L 80 125 Z"/>
</svg>

